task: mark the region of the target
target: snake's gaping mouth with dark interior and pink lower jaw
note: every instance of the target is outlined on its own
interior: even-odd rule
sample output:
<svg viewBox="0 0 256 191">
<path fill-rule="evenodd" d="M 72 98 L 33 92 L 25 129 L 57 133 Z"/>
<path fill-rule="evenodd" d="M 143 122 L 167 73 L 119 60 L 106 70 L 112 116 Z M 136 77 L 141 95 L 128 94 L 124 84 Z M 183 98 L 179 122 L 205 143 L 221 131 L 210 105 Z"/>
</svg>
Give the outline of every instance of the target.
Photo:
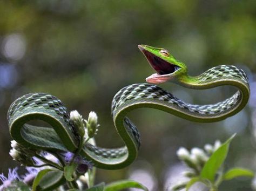
<svg viewBox="0 0 256 191">
<path fill-rule="evenodd" d="M 165 60 L 157 57 L 153 53 L 145 50 L 143 46 L 138 45 L 138 47 L 139 50 L 142 51 L 142 53 L 147 58 L 147 61 L 150 63 L 151 67 L 157 72 L 147 77 L 147 82 L 153 84 L 164 83 L 165 81 L 168 81 L 172 78 L 170 74 L 180 69 L 179 66 L 170 64 L 169 62 L 166 62 Z"/>
</svg>

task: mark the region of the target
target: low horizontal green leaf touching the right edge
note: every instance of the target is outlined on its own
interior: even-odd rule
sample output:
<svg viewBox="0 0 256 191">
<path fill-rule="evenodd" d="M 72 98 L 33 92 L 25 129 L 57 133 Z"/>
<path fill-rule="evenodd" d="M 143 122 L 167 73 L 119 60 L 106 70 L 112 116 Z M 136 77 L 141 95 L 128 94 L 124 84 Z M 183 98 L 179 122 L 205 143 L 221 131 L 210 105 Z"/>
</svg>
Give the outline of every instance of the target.
<svg viewBox="0 0 256 191">
<path fill-rule="evenodd" d="M 244 169 L 244 168 L 232 168 L 224 174 L 223 179 L 224 180 L 231 180 L 231 179 L 237 178 L 239 176 L 253 177 L 254 173 L 252 172 L 252 170 L 248 170 L 248 169 Z"/>
</svg>

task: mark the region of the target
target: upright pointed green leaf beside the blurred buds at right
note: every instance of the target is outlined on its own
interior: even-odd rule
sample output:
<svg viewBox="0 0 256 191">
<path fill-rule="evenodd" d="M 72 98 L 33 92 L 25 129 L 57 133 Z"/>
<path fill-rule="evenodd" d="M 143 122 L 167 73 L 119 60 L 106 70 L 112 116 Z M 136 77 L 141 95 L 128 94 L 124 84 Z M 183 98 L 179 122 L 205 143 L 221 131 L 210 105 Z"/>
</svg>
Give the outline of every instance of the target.
<svg viewBox="0 0 256 191">
<path fill-rule="evenodd" d="M 230 139 L 224 142 L 207 160 L 203 169 L 201 170 L 200 177 L 203 179 L 208 179 L 211 182 L 214 181 L 215 174 L 220 166 L 223 164 L 227 157 L 228 148 L 230 146 L 231 140 L 234 138 L 235 134 L 232 135 Z"/>
</svg>

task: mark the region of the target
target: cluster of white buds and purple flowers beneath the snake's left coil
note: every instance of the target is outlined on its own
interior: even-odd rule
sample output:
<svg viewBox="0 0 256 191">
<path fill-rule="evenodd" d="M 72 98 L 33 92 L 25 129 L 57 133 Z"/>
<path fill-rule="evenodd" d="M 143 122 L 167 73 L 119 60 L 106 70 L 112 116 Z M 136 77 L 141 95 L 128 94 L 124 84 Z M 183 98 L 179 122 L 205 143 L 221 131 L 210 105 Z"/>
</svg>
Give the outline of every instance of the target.
<svg viewBox="0 0 256 191">
<path fill-rule="evenodd" d="M 98 117 L 95 112 L 90 112 L 87 120 L 83 119 L 77 111 L 70 112 L 70 120 L 75 127 L 77 133 L 80 135 L 80 145 L 74 153 L 72 152 L 55 152 L 50 153 L 46 151 L 35 151 L 30 148 L 26 148 L 15 140 L 11 141 L 11 147 L 9 154 L 12 158 L 25 166 L 26 173 L 19 176 L 17 168 L 9 169 L 8 177 L 0 174 L 0 191 L 5 190 L 7 187 L 16 186 L 16 183 L 22 183 L 25 186 L 32 186 L 33 180 L 35 180 L 37 174 L 44 169 L 61 170 L 64 172 L 66 166 L 75 163 L 76 169 L 72 174 L 76 177 L 76 184 L 79 188 L 82 188 L 86 183 L 89 184 L 90 171 L 93 168 L 93 163 L 86 160 L 79 155 L 80 150 L 86 142 L 95 145 L 93 137 L 95 137 L 98 131 Z M 1 183 L 1 182 L 0 182 Z M 63 188 L 60 187 L 59 190 Z"/>
</svg>

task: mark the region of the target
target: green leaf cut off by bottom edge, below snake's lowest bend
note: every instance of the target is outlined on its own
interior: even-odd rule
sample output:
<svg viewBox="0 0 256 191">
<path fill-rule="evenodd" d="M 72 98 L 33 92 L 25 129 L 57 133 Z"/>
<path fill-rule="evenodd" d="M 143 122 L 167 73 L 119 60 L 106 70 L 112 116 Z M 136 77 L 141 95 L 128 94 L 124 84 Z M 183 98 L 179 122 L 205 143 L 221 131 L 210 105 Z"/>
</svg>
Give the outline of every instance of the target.
<svg viewBox="0 0 256 191">
<path fill-rule="evenodd" d="M 143 186 L 139 182 L 136 182 L 133 180 L 120 180 L 120 181 L 112 182 L 106 185 L 104 191 L 117 191 L 117 190 L 123 190 L 125 188 L 139 188 L 145 191 L 148 190 L 145 186 Z"/>
</svg>

